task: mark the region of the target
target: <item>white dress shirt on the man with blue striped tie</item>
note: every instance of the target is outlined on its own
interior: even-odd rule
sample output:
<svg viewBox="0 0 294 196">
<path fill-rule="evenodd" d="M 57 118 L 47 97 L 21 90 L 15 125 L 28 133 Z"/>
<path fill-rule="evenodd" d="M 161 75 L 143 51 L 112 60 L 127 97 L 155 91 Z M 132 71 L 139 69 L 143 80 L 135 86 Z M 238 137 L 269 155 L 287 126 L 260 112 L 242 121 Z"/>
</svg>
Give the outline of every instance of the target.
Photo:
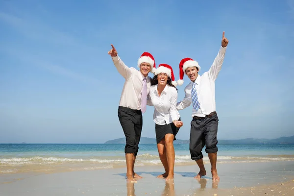
<svg viewBox="0 0 294 196">
<path fill-rule="evenodd" d="M 215 98 L 215 80 L 223 63 L 226 48 L 219 50 L 217 57 L 215 58 L 212 66 L 208 72 L 203 73 L 201 76 L 198 75 L 196 82 L 197 97 L 200 103 L 200 109 L 196 111 L 192 109 L 192 117 L 205 117 L 205 115 L 216 111 L 216 98 Z M 191 90 L 193 82 L 191 81 L 185 87 L 185 98 L 177 103 L 176 109 L 182 110 L 188 107 L 192 103 Z"/>
</svg>

